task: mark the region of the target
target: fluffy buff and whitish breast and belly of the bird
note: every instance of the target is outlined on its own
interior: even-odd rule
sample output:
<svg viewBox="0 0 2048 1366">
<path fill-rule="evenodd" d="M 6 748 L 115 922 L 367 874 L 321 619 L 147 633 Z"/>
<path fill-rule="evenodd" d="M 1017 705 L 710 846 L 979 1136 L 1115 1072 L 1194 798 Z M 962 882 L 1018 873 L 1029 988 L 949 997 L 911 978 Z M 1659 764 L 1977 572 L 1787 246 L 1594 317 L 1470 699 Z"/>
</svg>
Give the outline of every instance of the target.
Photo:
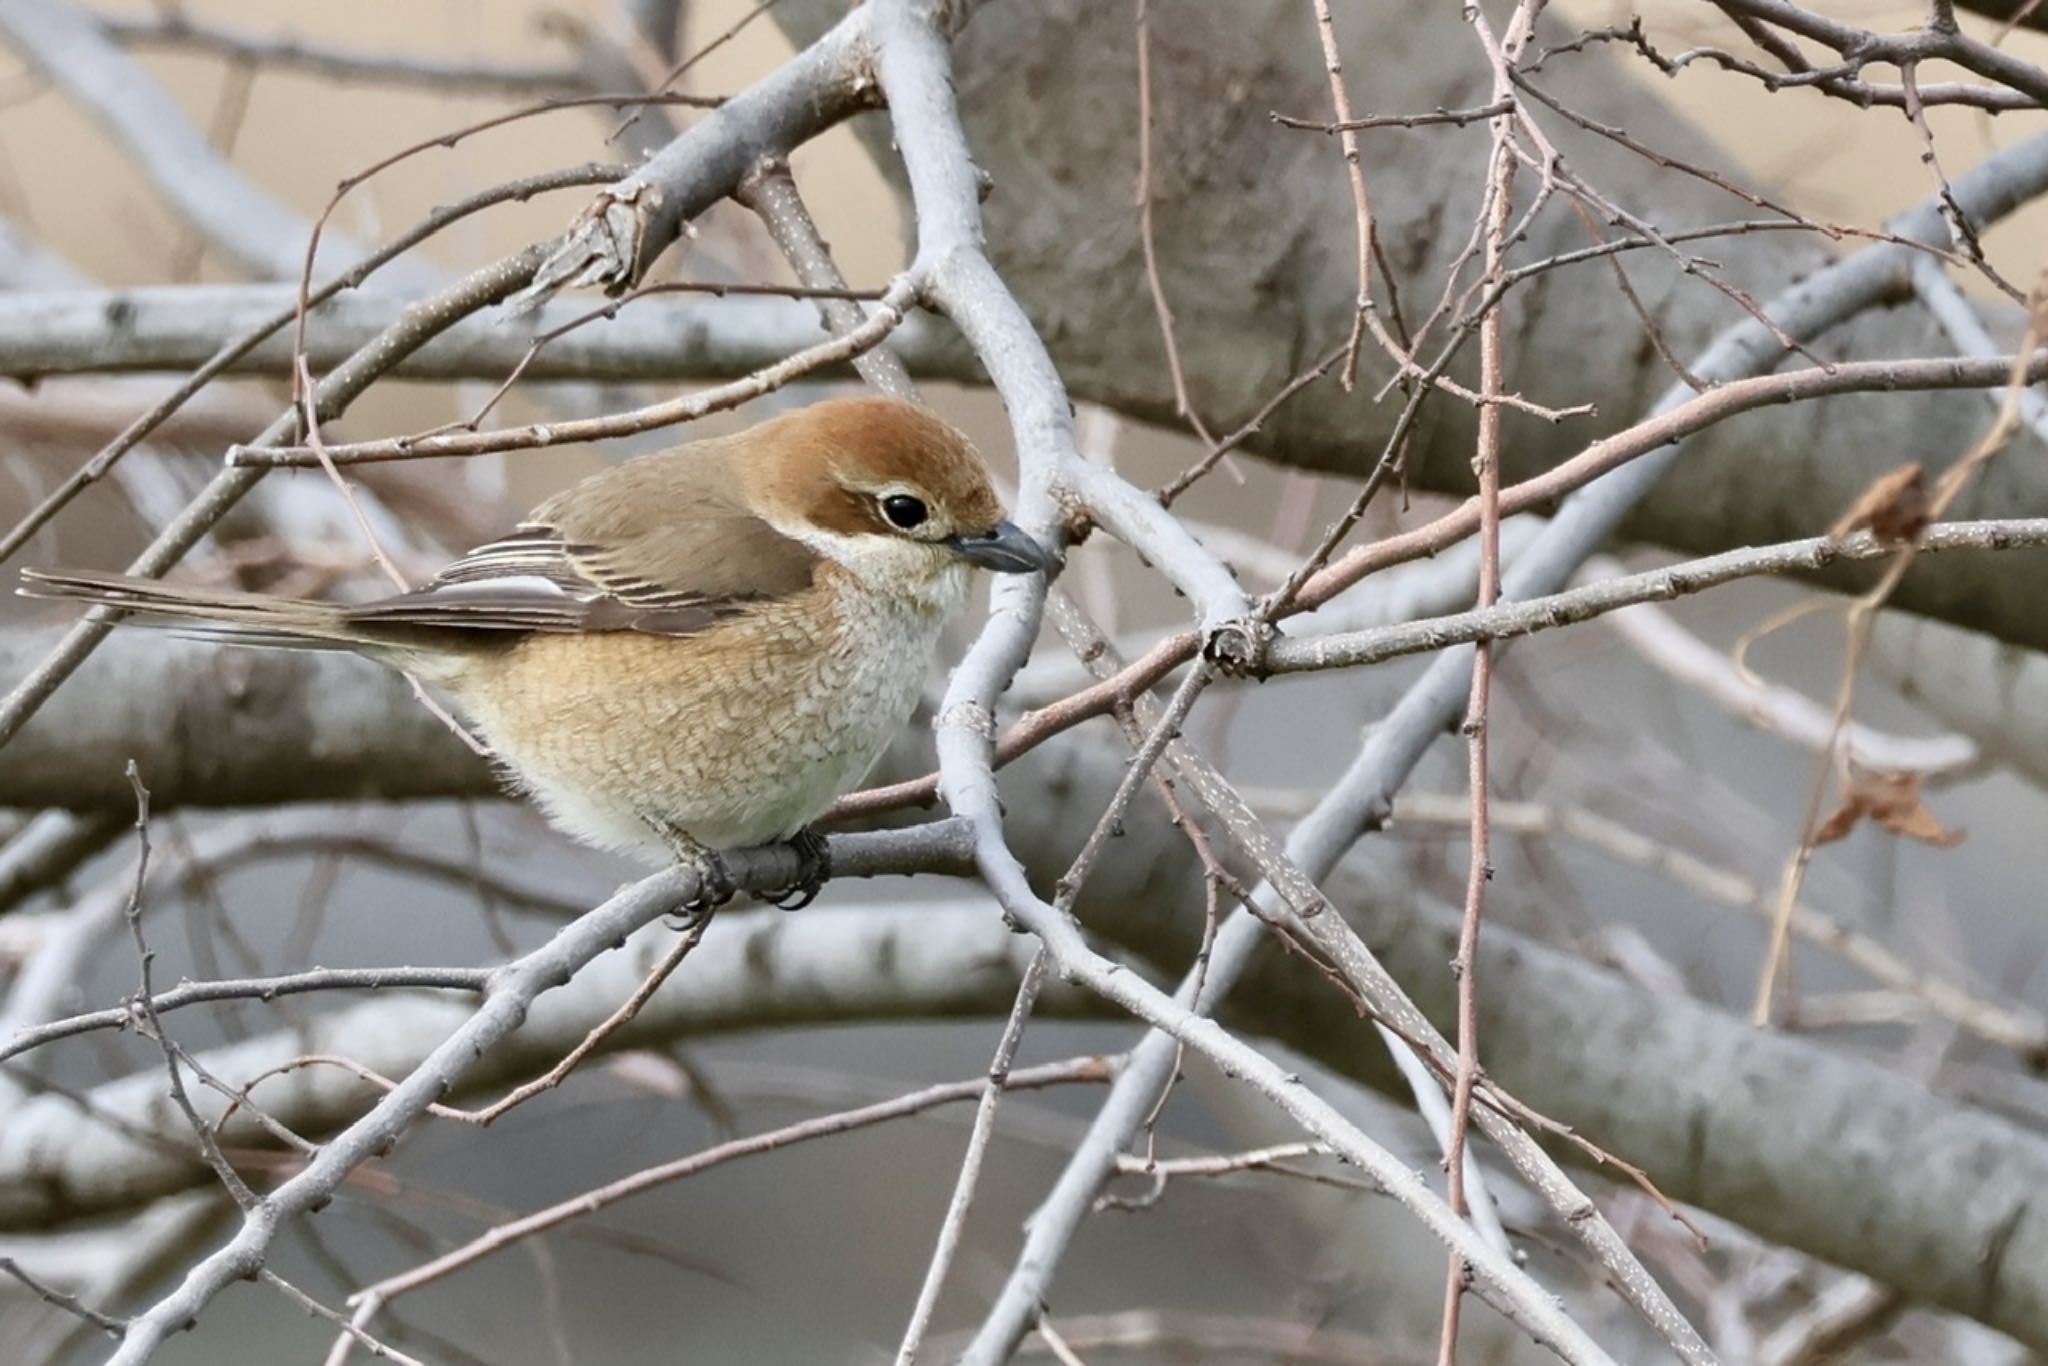
<svg viewBox="0 0 2048 1366">
<path fill-rule="evenodd" d="M 909 719 L 942 625 L 821 573 L 690 637 L 535 633 L 451 692 L 557 821 L 666 862 L 647 815 L 711 848 L 823 815 Z"/>
</svg>

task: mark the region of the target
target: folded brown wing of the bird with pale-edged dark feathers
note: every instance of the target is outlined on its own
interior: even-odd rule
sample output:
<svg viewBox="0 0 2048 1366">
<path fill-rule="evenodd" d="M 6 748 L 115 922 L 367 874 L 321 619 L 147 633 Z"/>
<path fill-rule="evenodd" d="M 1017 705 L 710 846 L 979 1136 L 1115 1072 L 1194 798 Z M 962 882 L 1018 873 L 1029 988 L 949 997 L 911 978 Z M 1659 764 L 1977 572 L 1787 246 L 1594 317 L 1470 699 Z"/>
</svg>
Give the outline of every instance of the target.
<svg viewBox="0 0 2048 1366">
<path fill-rule="evenodd" d="M 373 629 L 694 635 L 811 582 L 811 553 L 752 516 L 670 510 L 659 524 L 614 526 L 600 545 L 561 524 L 573 516 L 547 512 L 412 592 L 348 608 L 348 621 Z M 678 555 L 676 547 L 694 553 Z M 692 573 L 692 565 L 702 571 Z"/>
</svg>

